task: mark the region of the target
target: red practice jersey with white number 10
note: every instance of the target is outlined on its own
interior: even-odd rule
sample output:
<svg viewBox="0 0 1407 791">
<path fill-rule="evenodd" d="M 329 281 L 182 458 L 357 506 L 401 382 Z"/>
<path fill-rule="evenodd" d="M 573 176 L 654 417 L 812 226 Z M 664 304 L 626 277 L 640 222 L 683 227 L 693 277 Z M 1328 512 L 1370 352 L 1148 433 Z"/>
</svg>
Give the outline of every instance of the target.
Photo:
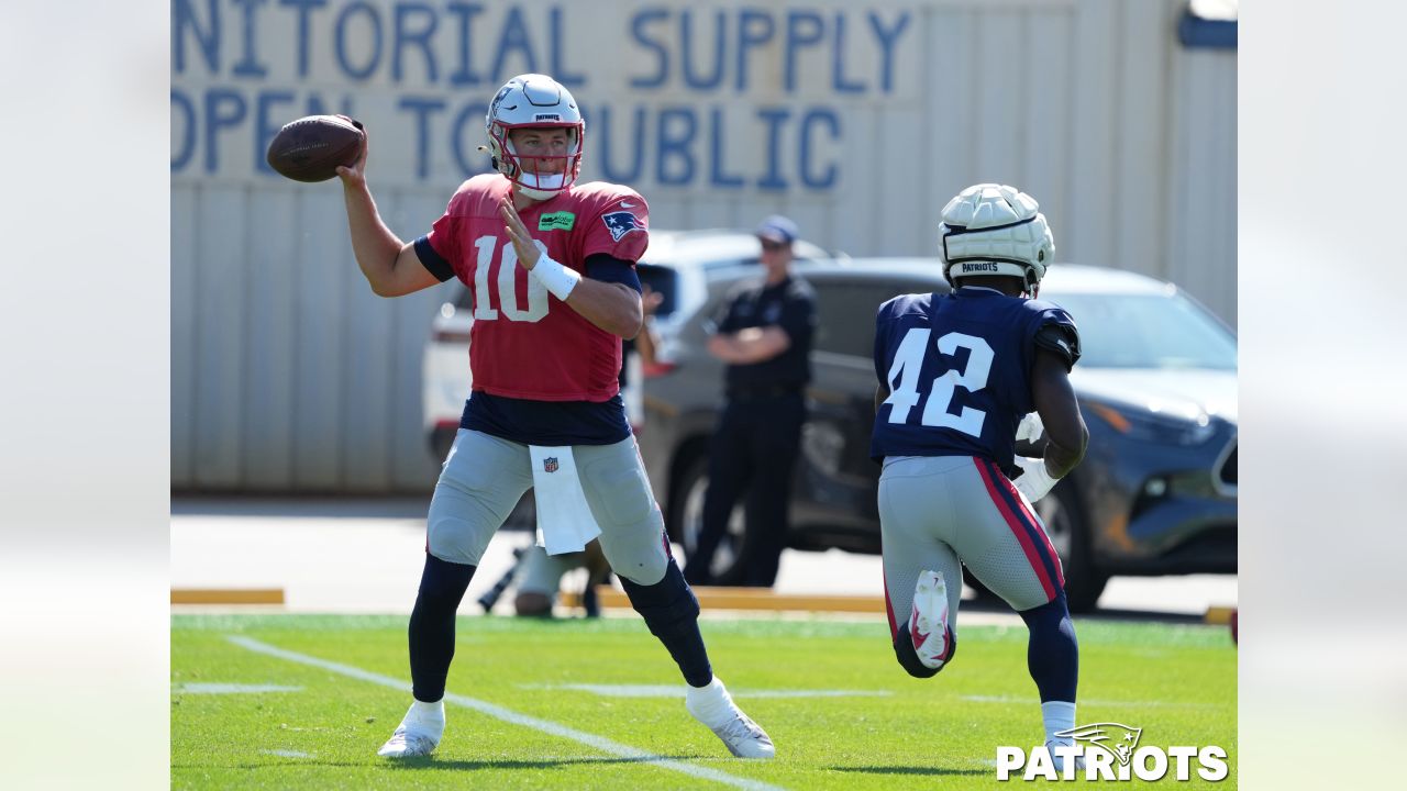
<svg viewBox="0 0 1407 791">
<path fill-rule="evenodd" d="M 474 176 L 450 198 L 426 241 L 474 296 L 474 390 L 535 401 L 605 401 L 619 391 L 620 338 L 591 324 L 518 265 L 498 201 L 511 184 Z M 630 187 L 591 182 L 518 213 L 539 249 L 585 277 L 587 258 L 635 263 L 650 241 L 650 210 Z"/>
</svg>

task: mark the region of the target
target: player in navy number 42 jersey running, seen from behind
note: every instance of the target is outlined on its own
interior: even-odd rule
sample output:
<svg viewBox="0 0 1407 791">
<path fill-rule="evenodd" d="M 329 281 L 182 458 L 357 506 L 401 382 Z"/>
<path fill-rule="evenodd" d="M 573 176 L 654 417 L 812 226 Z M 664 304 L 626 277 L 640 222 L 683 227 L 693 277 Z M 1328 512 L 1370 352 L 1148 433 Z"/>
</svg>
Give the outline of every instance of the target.
<svg viewBox="0 0 1407 791">
<path fill-rule="evenodd" d="M 1089 432 L 1068 379 L 1075 321 L 1037 300 L 1055 252 L 1038 208 L 999 184 L 968 187 L 943 208 L 954 290 L 895 297 L 875 317 L 871 456 L 884 463 L 885 598 L 899 664 L 927 678 L 953 660 L 965 564 L 1026 621 L 1047 747 L 1064 767 L 1079 647 L 1059 557 L 1031 502 L 1079 464 Z M 1019 435 L 1041 439 L 1044 457 L 1017 456 Z"/>
</svg>

